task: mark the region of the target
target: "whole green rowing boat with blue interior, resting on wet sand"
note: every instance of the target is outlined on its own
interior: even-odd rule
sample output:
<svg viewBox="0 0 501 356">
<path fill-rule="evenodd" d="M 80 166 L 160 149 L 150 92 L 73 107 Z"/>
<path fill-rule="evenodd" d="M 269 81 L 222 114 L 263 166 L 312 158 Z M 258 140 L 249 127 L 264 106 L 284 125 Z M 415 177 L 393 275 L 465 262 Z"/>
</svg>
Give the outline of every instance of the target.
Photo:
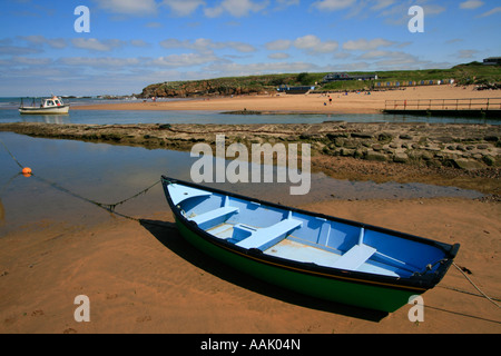
<svg viewBox="0 0 501 356">
<path fill-rule="evenodd" d="M 392 313 L 459 250 L 404 233 L 161 178 L 180 234 L 230 267 L 313 297 Z"/>
</svg>

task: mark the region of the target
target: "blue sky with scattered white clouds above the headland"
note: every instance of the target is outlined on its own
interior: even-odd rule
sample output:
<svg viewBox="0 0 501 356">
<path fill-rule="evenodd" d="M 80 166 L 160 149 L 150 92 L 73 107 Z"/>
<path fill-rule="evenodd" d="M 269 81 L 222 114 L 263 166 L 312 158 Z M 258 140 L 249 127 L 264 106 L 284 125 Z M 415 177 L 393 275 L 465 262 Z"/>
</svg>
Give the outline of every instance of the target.
<svg viewBox="0 0 501 356">
<path fill-rule="evenodd" d="M 78 6 L 90 32 L 76 32 Z M 424 10 L 412 33 L 409 9 Z M 0 96 L 130 95 L 278 72 L 450 68 L 501 56 L 499 0 L 10 0 Z"/>
</svg>

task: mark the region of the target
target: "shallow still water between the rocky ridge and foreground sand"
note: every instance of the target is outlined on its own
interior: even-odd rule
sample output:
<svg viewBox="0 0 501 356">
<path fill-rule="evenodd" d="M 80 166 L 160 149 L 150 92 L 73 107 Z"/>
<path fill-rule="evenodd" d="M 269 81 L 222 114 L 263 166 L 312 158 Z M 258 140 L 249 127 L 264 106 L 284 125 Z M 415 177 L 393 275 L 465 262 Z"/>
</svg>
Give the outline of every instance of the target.
<svg viewBox="0 0 501 356">
<path fill-rule="evenodd" d="M 30 138 L 11 132 L 0 132 L 0 140 L 36 175 L 30 178 L 19 175 L 18 165 L 0 147 L 0 221 L 4 221 L 4 226 L 0 227 L 0 236 L 40 220 L 67 221 L 85 226 L 106 222 L 115 217 L 76 196 L 111 205 L 149 187 L 158 181 L 161 175 L 190 180 L 191 165 L 198 159 L 191 158 L 189 152 Z M 55 188 L 50 181 L 57 182 L 63 189 Z M 312 188 L 305 196 L 291 196 L 291 184 L 212 184 L 212 186 L 289 206 L 333 198 L 482 196 L 477 191 L 453 187 L 394 182 L 379 185 L 371 181 L 336 180 L 324 175 L 312 175 Z M 117 207 L 117 211 L 138 218 L 151 218 L 158 212 L 165 214 L 166 217 L 170 216 L 160 185 Z"/>
</svg>

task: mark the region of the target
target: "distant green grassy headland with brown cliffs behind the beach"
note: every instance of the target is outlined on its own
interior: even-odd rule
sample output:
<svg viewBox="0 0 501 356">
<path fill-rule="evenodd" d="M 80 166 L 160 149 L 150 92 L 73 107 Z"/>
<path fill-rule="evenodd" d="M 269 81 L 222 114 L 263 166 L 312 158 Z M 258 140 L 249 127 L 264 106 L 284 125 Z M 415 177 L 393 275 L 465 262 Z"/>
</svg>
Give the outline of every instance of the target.
<svg viewBox="0 0 501 356">
<path fill-rule="evenodd" d="M 364 76 L 374 72 L 348 72 Z M 371 89 L 374 82 L 403 82 L 421 80 L 454 79 L 458 85 L 501 83 L 501 66 L 484 66 L 480 62 L 459 65 L 451 69 L 379 71 L 375 81 L 335 81 L 322 85 L 323 73 L 286 73 L 247 77 L 227 77 L 206 80 L 165 81 L 143 89 L 141 98 L 190 98 L 207 96 L 263 95 L 276 92 L 281 85 L 314 86 L 317 90 L 363 90 Z"/>
</svg>

